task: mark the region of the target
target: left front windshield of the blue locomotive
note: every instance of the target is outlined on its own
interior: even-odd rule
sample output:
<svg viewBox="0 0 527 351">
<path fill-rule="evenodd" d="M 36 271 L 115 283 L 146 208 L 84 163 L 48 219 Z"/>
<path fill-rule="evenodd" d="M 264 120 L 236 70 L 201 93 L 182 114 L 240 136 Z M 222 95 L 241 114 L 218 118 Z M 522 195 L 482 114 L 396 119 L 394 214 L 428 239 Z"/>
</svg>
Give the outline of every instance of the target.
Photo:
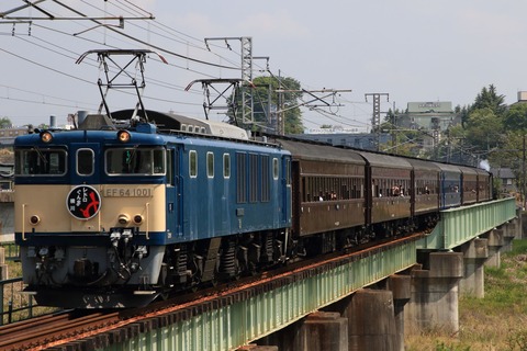
<svg viewBox="0 0 527 351">
<path fill-rule="evenodd" d="M 15 151 L 16 176 L 64 176 L 66 174 L 66 150 L 20 149 Z"/>
</svg>

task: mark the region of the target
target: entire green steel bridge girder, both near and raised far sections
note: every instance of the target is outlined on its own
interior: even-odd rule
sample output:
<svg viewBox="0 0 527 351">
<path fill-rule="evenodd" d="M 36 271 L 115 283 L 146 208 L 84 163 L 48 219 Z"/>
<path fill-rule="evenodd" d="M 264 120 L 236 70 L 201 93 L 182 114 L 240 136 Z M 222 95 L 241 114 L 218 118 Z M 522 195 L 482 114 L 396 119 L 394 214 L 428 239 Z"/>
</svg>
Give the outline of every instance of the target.
<svg viewBox="0 0 527 351">
<path fill-rule="evenodd" d="M 235 350 L 417 263 L 417 250 L 449 250 L 516 217 L 514 199 L 441 213 L 433 233 L 373 249 L 321 272 L 184 320 L 138 331 L 104 350 Z M 138 327 L 138 329 L 142 329 Z"/>
</svg>

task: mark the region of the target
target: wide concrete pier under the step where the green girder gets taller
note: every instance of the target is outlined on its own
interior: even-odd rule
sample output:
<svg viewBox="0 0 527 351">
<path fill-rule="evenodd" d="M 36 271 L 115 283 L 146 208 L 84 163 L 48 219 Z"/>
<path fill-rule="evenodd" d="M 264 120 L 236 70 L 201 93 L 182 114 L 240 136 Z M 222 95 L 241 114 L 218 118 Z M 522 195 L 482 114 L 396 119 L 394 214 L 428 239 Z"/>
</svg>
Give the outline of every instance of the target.
<svg viewBox="0 0 527 351">
<path fill-rule="evenodd" d="M 422 252 L 426 269 L 412 271 L 411 299 L 404 308 L 406 333 L 459 330 L 459 281 L 463 278 L 461 252 Z"/>
</svg>

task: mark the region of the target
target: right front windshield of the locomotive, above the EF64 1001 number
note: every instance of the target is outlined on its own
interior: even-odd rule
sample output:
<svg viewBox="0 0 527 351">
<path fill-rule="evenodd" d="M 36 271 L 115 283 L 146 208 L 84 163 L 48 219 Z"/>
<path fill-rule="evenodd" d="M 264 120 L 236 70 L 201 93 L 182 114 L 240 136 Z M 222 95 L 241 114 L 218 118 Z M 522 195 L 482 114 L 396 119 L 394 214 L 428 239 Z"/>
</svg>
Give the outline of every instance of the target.
<svg viewBox="0 0 527 351">
<path fill-rule="evenodd" d="M 165 174 L 164 148 L 112 148 L 105 152 L 105 169 L 109 176 Z"/>
</svg>

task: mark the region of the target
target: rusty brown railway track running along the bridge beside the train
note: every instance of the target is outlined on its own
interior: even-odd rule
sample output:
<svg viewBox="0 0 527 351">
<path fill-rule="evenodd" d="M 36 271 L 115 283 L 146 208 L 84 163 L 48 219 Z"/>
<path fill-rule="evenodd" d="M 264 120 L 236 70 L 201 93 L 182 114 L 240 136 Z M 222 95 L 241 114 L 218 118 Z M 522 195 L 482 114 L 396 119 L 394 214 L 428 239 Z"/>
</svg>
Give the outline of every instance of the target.
<svg viewBox="0 0 527 351">
<path fill-rule="evenodd" d="M 186 320 L 203 312 L 227 306 L 311 274 L 359 260 L 372 250 L 416 240 L 414 234 L 349 253 L 298 262 L 260 276 L 181 295 L 143 308 L 123 310 L 68 310 L 0 327 L 0 350 L 85 350 L 105 348 L 141 332 Z M 79 341 L 80 340 L 80 341 Z"/>
</svg>

